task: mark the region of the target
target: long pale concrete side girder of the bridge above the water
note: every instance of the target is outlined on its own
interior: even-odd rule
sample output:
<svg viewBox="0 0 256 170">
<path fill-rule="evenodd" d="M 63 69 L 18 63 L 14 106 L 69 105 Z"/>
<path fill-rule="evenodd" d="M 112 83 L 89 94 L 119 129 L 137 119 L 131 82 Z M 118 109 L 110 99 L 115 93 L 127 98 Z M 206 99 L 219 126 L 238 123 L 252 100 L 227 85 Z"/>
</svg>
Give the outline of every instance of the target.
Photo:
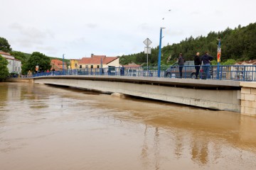
<svg viewBox="0 0 256 170">
<path fill-rule="evenodd" d="M 142 77 L 139 78 L 142 79 Z M 86 77 L 86 79 L 82 79 L 78 76 L 65 78 L 44 77 L 34 79 L 34 82 L 39 84 L 73 86 L 106 93 L 120 93 L 152 98 L 160 101 L 186 104 L 189 106 L 240 112 L 240 90 L 238 89 L 205 89 L 205 86 L 202 86 L 202 88 L 197 87 L 196 89 L 192 86 L 185 86 L 185 88 L 183 88 L 182 82 L 179 83 L 179 87 L 173 86 L 173 84 L 167 84 L 171 79 L 162 78 L 163 80 L 161 81 L 161 78 L 159 78 L 158 81 L 152 81 L 150 79 L 150 82 L 152 82 L 151 84 L 149 84 L 149 82 L 146 83 L 146 80 L 141 80 L 141 82 L 138 83 L 137 81 L 131 81 L 131 79 L 136 78 L 119 79 L 118 77 L 113 77 L 113 79 L 111 79 L 111 77 L 106 77 L 105 79 L 104 77 L 101 77 L 101 79 L 95 79 L 94 77 Z M 157 84 L 157 82 L 163 81 L 166 81 L 166 84 Z M 186 79 L 178 81 L 186 81 Z M 208 80 L 204 82 L 210 84 Z"/>
</svg>

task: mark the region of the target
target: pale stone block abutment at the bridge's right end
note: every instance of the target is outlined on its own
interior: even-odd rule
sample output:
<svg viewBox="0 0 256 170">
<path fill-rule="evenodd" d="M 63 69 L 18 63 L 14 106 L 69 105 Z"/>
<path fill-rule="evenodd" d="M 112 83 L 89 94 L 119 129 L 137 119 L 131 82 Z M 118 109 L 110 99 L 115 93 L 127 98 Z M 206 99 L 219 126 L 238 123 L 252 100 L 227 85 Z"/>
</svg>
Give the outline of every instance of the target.
<svg viewBox="0 0 256 170">
<path fill-rule="evenodd" d="M 241 113 L 244 115 L 256 115 L 256 82 L 240 82 L 241 89 Z"/>
</svg>

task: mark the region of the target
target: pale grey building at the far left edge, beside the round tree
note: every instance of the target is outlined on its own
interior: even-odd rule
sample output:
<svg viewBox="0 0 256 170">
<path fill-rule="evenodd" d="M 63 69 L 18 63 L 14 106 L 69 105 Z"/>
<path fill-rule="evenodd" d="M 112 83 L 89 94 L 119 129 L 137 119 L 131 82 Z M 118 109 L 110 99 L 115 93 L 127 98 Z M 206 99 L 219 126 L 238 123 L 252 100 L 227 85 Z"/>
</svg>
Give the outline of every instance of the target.
<svg viewBox="0 0 256 170">
<path fill-rule="evenodd" d="M 9 73 L 21 74 L 21 60 L 15 59 L 9 52 L 0 51 L 0 55 L 8 61 Z"/>
</svg>

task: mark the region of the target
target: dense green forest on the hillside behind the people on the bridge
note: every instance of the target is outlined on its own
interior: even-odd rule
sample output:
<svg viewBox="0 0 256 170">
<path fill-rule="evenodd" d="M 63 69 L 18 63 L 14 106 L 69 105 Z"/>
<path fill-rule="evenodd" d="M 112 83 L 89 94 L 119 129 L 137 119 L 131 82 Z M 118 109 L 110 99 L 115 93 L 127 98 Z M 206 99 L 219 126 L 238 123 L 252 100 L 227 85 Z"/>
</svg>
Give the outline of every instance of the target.
<svg viewBox="0 0 256 170">
<path fill-rule="evenodd" d="M 186 60 L 193 60 L 196 52 L 208 51 L 216 60 L 218 39 L 221 40 L 221 62 L 227 60 L 244 61 L 256 59 L 256 23 L 248 26 L 230 29 L 227 28 L 218 33 L 210 32 L 205 36 L 197 38 L 186 38 L 180 43 L 167 45 L 161 48 L 161 65 L 169 65 L 176 62 L 179 53 L 183 53 Z M 156 66 L 158 62 L 159 46 L 151 49 L 149 55 L 149 65 Z M 146 55 L 139 52 L 133 55 L 120 57 L 121 64 L 146 64 Z"/>
</svg>

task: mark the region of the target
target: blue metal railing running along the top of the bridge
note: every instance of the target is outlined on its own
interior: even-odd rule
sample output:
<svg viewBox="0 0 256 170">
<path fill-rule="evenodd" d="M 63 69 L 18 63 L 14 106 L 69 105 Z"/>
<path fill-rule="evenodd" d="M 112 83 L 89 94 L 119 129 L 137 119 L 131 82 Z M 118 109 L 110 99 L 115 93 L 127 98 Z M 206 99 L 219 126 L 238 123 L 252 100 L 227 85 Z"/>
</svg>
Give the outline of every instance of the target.
<svg viewBox="0 0 256 170">
<path fill-rule="evenodd" d="M 256 81 L 256 65 L 217 65 L 200 66 L 198 79 L 207 79 L 204 69 L 209 67 L 210 77 L 208 79 L 234 80 L 234 81 Z M 110 67 L 110 68 L 87 68 L 87 69 L 65 69 L 64 71 L 41 72 L 33 74 L 33 77 L 61 76 L 61 75 L 94 75 L 94 76 L 125 76 L 125 77 L 158 77 L 157 67 Z M 183 66 L 182 77 L 179 67 L 161 67 L 160 77 L 195 79 L 195 66 Z"/>
</svg>

